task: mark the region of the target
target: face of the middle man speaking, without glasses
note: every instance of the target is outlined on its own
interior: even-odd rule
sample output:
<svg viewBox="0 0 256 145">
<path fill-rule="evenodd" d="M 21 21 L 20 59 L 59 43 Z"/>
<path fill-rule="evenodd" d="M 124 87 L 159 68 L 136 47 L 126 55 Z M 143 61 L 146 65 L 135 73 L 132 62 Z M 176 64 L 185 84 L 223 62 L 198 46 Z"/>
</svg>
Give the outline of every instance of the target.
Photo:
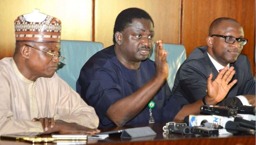
<svg viewBox="0 0 256 145">
<path fill-rule="evenodd" d="M 154 27 L 148 19 L 134 19 L 122 32 L 121 53 L 132 63 L 146 60 L 153 48 Z"/>
</svg>

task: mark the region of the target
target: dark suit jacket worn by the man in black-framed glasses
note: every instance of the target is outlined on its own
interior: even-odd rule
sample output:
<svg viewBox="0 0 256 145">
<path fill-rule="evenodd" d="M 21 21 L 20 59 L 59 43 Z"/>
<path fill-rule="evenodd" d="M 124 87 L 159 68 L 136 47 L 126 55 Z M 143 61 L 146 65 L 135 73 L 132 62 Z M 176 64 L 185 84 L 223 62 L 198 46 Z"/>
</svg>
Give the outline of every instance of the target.
<svg viewBox="0 0 256 145">
<path fill-rule="evenodd" d="M 238 81 L 218 105 L 242 105 L 235 96 L 255 94 L 255 78 L 247 57 L 241 54 L 237 61 L 230 66 L 234 66 L 236 71 L 232 80 L 237 79 Z M 207 78 L 210 73 L 213 73 L 213 80 L 218 75 L 217 69 L 207 54 L 207 47 L 196 48 L 176 73 L 172 88 L 173 97 L 176 97 L 182 105 L 202 99 L 207 94 Z"/>
</svg>

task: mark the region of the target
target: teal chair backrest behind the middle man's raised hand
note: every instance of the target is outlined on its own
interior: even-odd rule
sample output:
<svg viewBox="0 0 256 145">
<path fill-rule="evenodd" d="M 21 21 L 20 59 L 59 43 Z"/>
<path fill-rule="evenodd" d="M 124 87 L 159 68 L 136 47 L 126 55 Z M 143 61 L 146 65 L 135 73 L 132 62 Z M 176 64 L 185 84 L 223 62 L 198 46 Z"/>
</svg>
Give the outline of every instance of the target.
<svg viewBox="0 0 256 145">
<path fill-rule="evenodd" d="M 155 44 L 154 44 L 155 49 Z M 166 61 L 168 63 L 169 67 L 169 73 L 167 77 L 167 82 L 172 89 L 174 84 L 174 79 L 176 76 L 176 72 L 178 71 L 180 65 L 185 61 L 186 59 L 186 50 L 183 45 L 177 45 L 177 44 L 168 44 L 163 43 L 163 49 L 165 49 L 168 53 Z M 152 61 L 155 61 L 155 52 L 152 51 L 152 55 L 149 56 L 149 59 Z"/>
</svg>

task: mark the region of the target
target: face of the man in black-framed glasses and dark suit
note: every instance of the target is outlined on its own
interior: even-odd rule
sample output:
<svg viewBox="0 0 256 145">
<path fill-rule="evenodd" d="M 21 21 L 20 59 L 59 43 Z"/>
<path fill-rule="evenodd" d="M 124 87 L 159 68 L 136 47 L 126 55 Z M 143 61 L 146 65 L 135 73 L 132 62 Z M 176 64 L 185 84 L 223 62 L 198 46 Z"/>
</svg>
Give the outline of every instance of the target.
<svg viewBox="0 0 256 145">
<path fill-rule="evenodd" d="M 243 28 L 235 22 L 223 21 L 217 28 L 217 35 L 233 36 L 236 38 L 244 38 Z M 228 63 L 234 63 L 240 55 L 243 46 L 236 41 L 233 44 L 225 42 L 225 38 L 213 36 L 212 52 L 214 59 L 225 66 Z"/>
</svg>

